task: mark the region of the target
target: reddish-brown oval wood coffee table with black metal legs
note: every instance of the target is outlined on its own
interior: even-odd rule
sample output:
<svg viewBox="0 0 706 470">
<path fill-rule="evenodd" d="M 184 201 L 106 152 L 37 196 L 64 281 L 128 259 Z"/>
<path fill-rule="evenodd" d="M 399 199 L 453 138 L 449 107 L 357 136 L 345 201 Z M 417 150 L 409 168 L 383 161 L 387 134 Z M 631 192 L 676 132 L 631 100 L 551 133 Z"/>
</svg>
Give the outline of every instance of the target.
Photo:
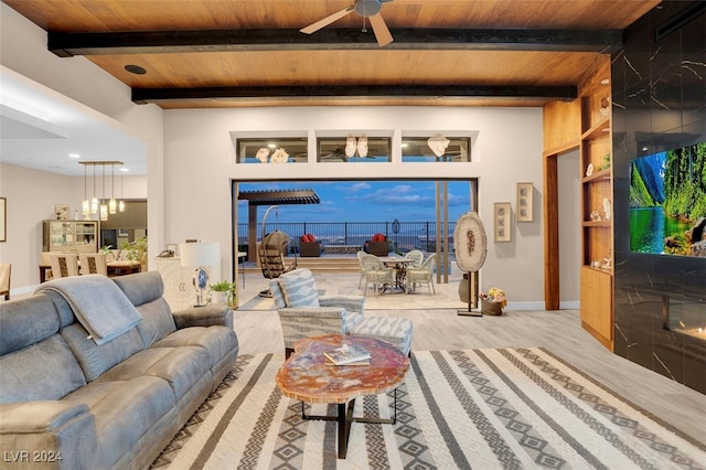
<svg viewBox="0 0 706 470">
<path fill-rule="evenodd" d="M 370 365 L 327 364 L 323 352 L 341 348 L 344 343 L 367 350 L 371 353 Z M 302 402 L 302 419 L 338 421 L 339 458 L 344 459 L 353 421 L 395 424 L 397 415 L 396 393 L 393 418 L 354 418 L 355 398 L 396 391 L 408 367 L 409 359 L 389 343 L 373 338 L 334 334 L 297 342 L 295 353 L 277 371 L 275 380 L 282 395 Z M 304 402 L 334 403 L 338 405 L 336 416 L 307 415 Z"/>
</svg>

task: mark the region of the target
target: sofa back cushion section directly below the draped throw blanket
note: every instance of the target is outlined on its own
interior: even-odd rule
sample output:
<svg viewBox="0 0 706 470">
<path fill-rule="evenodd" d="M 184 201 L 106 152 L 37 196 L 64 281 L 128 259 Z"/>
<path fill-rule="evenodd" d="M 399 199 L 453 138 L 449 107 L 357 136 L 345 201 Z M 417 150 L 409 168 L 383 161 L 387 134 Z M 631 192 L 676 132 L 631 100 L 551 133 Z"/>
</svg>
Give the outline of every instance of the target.
<svg viewBox="0 0 706 470">
<path fill-rule="evenodd" d="M 88 382 L 95 381 L 116 364 L 145 349 L 142 337 L 136 328 L 103 345 L 88 339 L 88 332 L 81 323 L 64 328 L 61 332 L 78 359 Z"/>
</svg>

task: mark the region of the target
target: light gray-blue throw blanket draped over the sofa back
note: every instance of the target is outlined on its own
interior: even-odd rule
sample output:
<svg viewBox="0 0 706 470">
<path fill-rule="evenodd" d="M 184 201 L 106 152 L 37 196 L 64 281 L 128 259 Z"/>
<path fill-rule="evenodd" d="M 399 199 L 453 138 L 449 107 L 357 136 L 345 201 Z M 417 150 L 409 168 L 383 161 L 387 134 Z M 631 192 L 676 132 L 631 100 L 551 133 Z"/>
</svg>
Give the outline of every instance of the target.
<svg viewBox="0 0 706 470">
<path fill-rule="evenodd" d="M 54 279 L 34 291 L 39 292 L 65 299 L 98 345 L 116 339 L 142 320 L 120 288 L 103 275 Z"/>
</svg>

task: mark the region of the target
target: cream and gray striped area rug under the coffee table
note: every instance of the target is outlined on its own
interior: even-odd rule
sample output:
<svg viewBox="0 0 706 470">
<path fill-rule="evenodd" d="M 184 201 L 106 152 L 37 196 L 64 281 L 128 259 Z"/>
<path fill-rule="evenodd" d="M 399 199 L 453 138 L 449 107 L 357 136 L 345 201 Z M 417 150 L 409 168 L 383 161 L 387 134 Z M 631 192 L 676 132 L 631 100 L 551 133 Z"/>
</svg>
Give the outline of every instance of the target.
<svg viewBox="0 0 706 470">
<path fill-rule="evenodd" d="M 703 469 L 706 446 L 544 349 L 413 352 L 397 424 L 354 423 L 336 459 L 331 421 L 302 421 L 274 382 L 281 354 L 244 355 L 153 468 Z M 388 417 L 393 394 L 355 415 Z M 334 406 L 307 405 L 313 414 Z"/>
</svg>

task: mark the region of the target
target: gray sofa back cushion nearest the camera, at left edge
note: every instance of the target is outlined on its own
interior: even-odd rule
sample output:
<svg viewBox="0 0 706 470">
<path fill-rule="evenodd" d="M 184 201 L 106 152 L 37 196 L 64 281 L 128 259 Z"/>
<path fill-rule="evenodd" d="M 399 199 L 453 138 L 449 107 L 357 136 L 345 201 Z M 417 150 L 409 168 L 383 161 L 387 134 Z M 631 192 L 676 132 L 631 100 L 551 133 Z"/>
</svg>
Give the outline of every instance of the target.
<svg viewBox="0 0 706 470">
<path fill-rule="evenodd" d="M 0 356 L 0 403 L 60 399 L 84 385 L 81 366 L 58 334 Z"/>
</svg>

